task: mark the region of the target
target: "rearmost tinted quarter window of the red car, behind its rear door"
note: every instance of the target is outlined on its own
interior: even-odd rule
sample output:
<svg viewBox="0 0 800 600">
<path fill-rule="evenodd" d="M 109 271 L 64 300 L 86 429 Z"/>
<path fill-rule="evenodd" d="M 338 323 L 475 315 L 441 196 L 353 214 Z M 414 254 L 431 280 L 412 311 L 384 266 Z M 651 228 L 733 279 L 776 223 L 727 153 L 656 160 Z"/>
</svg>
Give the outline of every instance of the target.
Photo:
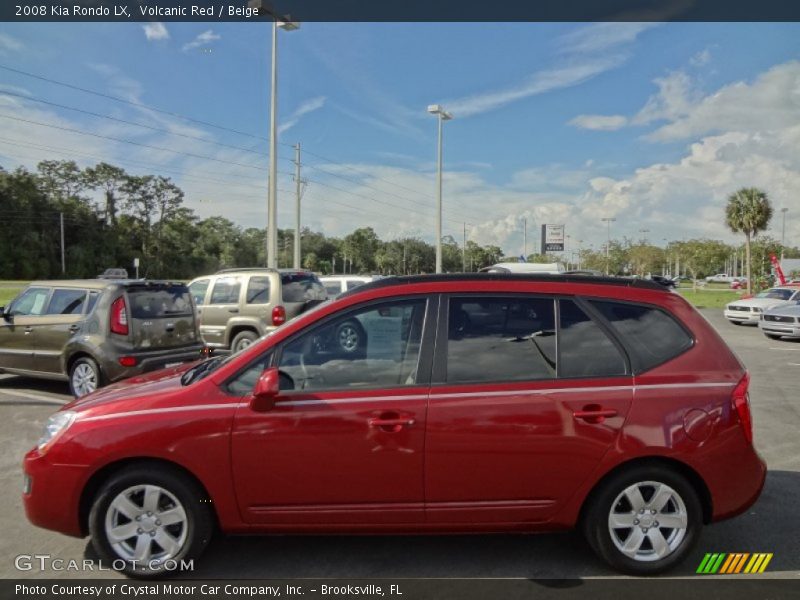
<svg viewBox="0 0 800 600">
<path fill-rule="evenodd" d="M 589 302 L 628 346 L 637 372 L 660 365 L 692 347 L 692 337 L 662 310 L 622 302 Z"/>
</svg>

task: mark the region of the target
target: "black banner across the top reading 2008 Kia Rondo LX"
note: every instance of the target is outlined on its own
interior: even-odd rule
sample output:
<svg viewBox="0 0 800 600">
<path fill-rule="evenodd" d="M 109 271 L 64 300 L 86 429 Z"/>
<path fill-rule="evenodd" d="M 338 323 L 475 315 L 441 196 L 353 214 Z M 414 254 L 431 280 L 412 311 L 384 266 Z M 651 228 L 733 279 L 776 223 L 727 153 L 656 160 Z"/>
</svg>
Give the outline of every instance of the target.
<svg viewBox="0 0 800 600">
<path fill-rule="evenodd" d="M 2 0 L 0 21 L 800 21 L 797 0 Z"/>
</svg>

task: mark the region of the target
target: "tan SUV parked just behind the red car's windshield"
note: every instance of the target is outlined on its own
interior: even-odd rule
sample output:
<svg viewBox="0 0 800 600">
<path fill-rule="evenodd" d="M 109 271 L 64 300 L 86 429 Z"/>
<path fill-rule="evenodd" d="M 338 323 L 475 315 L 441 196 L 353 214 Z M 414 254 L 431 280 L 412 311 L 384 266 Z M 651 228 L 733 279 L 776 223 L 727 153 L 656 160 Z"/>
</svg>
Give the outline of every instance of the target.
<svg viewBox="0 0 800 600">
<path fill-rule="evenodd" d="M 232 352 L 327 298 L 314 273 L 295 269 L 224 269 L 189 290 L 205 343 Z"/>
</svg>

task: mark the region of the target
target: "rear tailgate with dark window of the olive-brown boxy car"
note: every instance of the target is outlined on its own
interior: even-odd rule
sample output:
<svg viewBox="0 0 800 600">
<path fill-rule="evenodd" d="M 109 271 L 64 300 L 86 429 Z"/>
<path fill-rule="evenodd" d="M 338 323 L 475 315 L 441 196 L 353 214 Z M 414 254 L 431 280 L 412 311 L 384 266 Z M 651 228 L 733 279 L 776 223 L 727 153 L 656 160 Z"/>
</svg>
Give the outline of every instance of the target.
<svg viewBox="0 0 800 600">
<path fill-rule="evenodd" d="M 127 303 L 136 348 L 157 350 L 197 343 L 194 307 L 185 285 L 129 287 Z"/>
</svg>

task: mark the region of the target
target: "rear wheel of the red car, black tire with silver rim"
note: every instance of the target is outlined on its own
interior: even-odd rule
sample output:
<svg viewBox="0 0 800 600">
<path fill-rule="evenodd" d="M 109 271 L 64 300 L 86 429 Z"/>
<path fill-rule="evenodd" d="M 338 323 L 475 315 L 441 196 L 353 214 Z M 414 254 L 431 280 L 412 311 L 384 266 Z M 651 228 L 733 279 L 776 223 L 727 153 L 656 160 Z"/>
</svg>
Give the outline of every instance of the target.
<svg viewBox="0 0 800 600">
<path fill-rule="evenodd" d="M 644 514 L 635 510 L 625 495 L 627 490 L 638 491 L 644 507 L 657 506 L 650 504 L 657 485 L 667 486 L 660 489 L 669 499 L 655 514 L 653 509 L 640 508 Z M 631 519 L 632 525 L 615 528 L 612 534 L 612 511 L 620 521 Z M 667 519 L 685 527 L 668 528 L 663 523 Z M 617 473 L 592 493 L 583 525 L 589 545 L 611 567 L 630 575 L 653 575 L 673 568 L 691 552 L 703 527 L 703 510 L 697 492 L 682 475 L 662 466 L 640 466 Z M 656 547 L 660 540 L 666 544 L 663 552 Z M 618 544 L 624 547 L 628 542 L 633 548 L 625 553 Z"/>
</svg>

